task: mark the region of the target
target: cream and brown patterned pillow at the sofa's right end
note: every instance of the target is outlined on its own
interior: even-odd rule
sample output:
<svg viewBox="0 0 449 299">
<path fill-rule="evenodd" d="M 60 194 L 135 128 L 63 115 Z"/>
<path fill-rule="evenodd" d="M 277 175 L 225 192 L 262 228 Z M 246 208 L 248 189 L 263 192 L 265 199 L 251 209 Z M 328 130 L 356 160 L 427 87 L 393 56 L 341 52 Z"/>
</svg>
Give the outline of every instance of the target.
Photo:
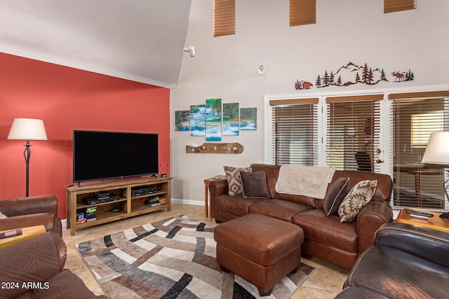
<svg viewBox="0 0 449 299">
<path fill-rule="evenodd" d="M 377 188 L 377 180 L 375 181 L 359 181 L 344 197 L 342 204 L 338 208 L 340 222 L 353 221 L 361 209 L 365 207 L 374 196 Z"/>
</svg>

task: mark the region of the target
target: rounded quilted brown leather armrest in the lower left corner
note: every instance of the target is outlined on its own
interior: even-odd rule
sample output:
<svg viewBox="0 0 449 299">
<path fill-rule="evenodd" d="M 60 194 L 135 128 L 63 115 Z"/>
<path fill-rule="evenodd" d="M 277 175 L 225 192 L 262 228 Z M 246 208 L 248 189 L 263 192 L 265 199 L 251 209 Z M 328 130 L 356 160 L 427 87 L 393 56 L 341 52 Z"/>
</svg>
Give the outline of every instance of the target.
<svg viewBox="0 0 449 299">
<path fill-rule="evenodd" d="M 45 282 L 62 271 L 67 247 L 59 235 L 46 232 L 0 249 L 0 281 L 18 288 L 0 288 L 0 298 L 15 297 L 28 291 L 22 284 Z"/>
</svg>

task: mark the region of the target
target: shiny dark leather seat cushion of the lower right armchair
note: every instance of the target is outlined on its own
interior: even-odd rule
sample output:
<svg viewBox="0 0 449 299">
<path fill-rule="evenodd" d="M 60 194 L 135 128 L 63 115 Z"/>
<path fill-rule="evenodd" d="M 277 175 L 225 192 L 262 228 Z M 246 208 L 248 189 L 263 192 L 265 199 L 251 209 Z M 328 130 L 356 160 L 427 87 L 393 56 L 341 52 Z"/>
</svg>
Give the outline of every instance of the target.
<svg viewBox="0 0 449 299">
<path fill-rule="evenodd" d="M 449 269 L 386 246 L 358 259 L 344 286 L 368 288 L 387 298 L 448 298 Z"/>
</svg>

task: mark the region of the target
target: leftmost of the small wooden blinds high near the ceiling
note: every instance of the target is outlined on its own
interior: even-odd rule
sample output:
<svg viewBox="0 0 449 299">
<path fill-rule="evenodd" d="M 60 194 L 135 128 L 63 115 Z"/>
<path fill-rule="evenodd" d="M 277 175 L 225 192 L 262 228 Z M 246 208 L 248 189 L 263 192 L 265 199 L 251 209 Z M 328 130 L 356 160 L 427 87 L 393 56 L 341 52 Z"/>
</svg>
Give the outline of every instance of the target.
<svg viewBox="0 0 449 299">
<path fill-rule="evenodd" d="M 235 0 L 215 0 L 213 6 L 213 36 L 236 34 Z"/>
</svg>

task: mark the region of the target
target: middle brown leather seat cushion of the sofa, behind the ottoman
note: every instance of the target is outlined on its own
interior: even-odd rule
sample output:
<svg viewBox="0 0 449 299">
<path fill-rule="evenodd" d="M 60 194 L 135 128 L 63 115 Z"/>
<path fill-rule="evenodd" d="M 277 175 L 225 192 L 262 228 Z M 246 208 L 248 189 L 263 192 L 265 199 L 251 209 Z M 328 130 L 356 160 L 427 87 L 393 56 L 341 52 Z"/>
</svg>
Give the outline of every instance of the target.
<svg viewBox="0 0 449 299">
<path fill-rule="evenodd" d="M 260 200 L 251 204 L 249 208 L 250 213 L 262 214 L 287 222 L 292 222 L 293 216 L 298 213 L 314 209 L 306 204 L 298 204 L 288 200 Z"/>
</svg>

